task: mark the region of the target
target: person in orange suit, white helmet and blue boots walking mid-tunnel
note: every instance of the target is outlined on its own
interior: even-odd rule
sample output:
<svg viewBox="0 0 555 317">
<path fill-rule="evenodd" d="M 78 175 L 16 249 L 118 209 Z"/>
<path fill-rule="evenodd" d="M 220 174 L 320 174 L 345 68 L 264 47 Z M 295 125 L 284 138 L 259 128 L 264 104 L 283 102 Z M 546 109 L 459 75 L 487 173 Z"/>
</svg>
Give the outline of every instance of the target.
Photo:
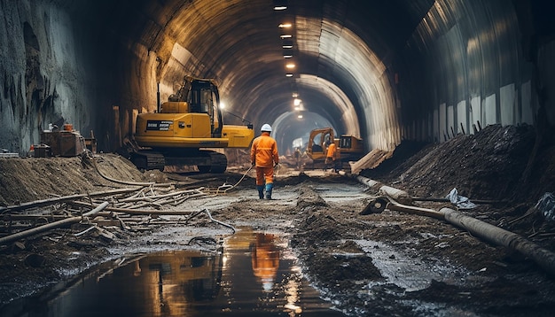
<svg viewBox="0 0 555 317">
<path fill-rule="evenodd" d="M 268 123 L 262 125 L 262 135 L 253 141 L 251 147 L 251 163 L 256 168 L 256 189 L 258 197 L 264 198 L 266 189 L 266 199 L 271 199 L 271 191 L 274 188 L 274 167 L 279 164 L 277 154 L 277 143 L 270 136 L 271 127 Z"/>
</svg>

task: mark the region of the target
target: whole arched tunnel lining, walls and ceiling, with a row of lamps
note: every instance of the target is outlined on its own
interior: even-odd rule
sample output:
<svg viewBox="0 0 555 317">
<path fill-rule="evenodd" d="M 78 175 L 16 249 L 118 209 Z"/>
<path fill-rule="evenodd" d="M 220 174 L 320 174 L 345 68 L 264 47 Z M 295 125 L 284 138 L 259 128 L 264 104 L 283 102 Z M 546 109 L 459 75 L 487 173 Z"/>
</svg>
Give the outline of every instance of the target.
<svg viewBox="0 0 555 317">
<path fill-rule="evenodd" d="M 49 124 L 132 139 L 184 75 L 218 82 L 225 123 L 312 128 L 366 151 L 442 143 L 490 124 L 555 123 L 547 1 L 166 0 L 0 2 L 0 147 Z"/>
</svg>

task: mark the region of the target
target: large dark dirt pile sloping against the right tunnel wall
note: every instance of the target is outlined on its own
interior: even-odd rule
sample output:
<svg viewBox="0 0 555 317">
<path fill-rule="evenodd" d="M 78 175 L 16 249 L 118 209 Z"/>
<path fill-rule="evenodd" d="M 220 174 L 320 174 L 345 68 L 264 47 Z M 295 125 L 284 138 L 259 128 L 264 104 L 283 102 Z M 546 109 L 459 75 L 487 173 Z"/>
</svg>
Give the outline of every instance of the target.
<svg viewBox="0 0 555 317">
<path fill-rule="evenodd" d="M 475 135 L 457 135 L 445 143 L 431 144 L 420 151 L 403 151 L 396 163 L 363 175 L 379 178 L 408 189 L 416 197 L 445 197 L 453 188 L 474 199 L 534 202 L 544 192 L 555 190 L 553 147 L 546 144 L 535 162 L 532 177 L 523 183 L 523 174 L 534 147 L 535 133 L 530 126 L 491 125 Z M 418 146 L 406 146 L 418 150 Z M 401 144 L 398 149 L 404 149 Z"/>
</svg>

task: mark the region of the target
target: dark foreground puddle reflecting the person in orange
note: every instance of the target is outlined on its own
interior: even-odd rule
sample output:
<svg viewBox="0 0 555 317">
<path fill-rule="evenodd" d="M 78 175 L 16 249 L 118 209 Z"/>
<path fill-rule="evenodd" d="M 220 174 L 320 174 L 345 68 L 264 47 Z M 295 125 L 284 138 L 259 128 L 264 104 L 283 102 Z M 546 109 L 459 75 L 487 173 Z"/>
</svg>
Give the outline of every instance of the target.
<svg viewBox="0 0 555 317">
<path fill-rule="evenodd" d="M 341 316 L 309 287 L 280 239 L 241 230 L 218 251 L 161 251 L 117 268 L 99 266 L 70 287 L 25 298 L 0 314 Z"/>
</svg>

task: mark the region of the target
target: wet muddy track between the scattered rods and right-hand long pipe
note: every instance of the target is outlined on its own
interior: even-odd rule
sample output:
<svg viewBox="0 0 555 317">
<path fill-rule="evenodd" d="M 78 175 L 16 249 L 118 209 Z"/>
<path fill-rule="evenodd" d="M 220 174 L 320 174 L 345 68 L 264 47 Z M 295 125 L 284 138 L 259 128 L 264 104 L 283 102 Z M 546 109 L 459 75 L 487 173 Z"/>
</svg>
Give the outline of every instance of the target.
<svg viewBox="0 0 555 317">
<path fill-rule="evenodd" d="M 346 315 L 518 315 L 513 303 L 526 304 L 520 313 L 542 314 L 542 305 L 553 305 L 553 282 L 521 263 L 518 255 L 439 220 L 389 211 L 360 215 L 376 193 L 337 174 L 323 176 L 278 179 L 274 200 L 255 197 L 253 181 L 247 178 L 225 195 L 191 199 L 174 208 L 207 208 L 216 220 L 233 227 L 284 235 L 304 276 Z M 232 234 L 204 214 L 186 224 L 184 216 L 164 218 L 182 223 L 121 233 L 126 237 L 100 249 L 104 257 L 186 249 L 194 247 L 190 242 L 195 237 Z M 468 259 L 468 251 L 475 260 Z M 74 263 L 85 266 L 81 269 L 98 260 L 86 250 L 71 254 Z M 92 257 L 90 263 L 87 257 Z"/>
</svg>

